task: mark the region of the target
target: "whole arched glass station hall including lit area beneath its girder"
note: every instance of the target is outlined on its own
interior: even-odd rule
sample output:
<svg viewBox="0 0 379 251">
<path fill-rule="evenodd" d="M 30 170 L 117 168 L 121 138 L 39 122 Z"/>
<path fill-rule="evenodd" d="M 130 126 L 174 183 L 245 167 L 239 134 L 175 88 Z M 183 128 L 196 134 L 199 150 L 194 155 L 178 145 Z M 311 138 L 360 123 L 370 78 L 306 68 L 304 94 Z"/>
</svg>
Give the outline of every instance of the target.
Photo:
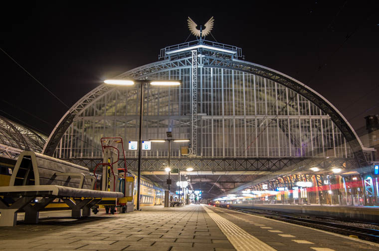
<svg viewBox="0 0 379 251">
<path fill-rule="evenodd" d="M 165 139 L 171 131 L 190 142 L 173 143 L 170 153 L 167 144 L 152 143 L 142 152 L 143 175 L 165 185 L 170 154 L 171 168 L 204 199 L 233 194 L 233 203 L 378 204 L 372 149 L 309 86 L 246 61 L 239 47 L 203 39 L 165 47 L 158 59 L 115 78 L 181 80 L 176 87 L 145 85 L 142 135 Z M 102 137 L 137 141 L 140 88 L 101 84 L 90 91 L 57 123 L 43 154 L 91 169 L 102 159 Z M 137 151 L 125 156 L 135 171 Z"/>
</svg>

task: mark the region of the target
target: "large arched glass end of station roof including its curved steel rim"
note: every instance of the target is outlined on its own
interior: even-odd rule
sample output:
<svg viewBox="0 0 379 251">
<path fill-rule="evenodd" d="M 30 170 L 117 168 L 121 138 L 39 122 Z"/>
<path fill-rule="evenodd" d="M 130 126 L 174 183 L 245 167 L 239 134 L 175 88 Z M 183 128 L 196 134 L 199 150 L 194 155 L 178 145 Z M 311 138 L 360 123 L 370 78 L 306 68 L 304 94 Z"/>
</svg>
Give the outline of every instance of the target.
<svg viewBox="0 0 379 251">
<path fill-rule="evenodd" d="M 226 55 L 223 49 L 221 53 L 218 47 L 195 46 L 199 55 L 196 57 L 199 124 L 191 128 L 193 59 L 190 47 L 179 47 L 177 53 L 176 47 L 166 49 L 165 60 L 118 76 L 183 81 L 179 87 L 146 88 L 145 140 L 162 138 L 170 129 L 177 137 L 189 138 L 191 131 L 197 130 L 198 157 L 335 157 L 356 158 L 358 166 L 367 165 L 355 131 L 322 95 L 283 73 L 239 60 L 233 51 Z M 58 122 L 44 146 L 44 154 L 95 158 L 101 154 L 100 137 L 135 140 L 139 88 L 101 85 L 89 92 Z M 146 154 L 152 158 L 167 156 L 158 148 Z"/>
</svg>

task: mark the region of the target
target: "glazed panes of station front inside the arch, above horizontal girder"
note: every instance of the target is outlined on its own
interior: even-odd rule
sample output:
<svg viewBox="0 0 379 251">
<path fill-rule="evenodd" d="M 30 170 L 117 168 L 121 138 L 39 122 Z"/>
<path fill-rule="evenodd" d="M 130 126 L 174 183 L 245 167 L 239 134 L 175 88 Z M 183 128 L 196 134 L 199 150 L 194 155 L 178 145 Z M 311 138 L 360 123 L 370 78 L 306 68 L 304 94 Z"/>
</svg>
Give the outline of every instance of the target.
<svg viewBox="0 0 379 251">
<path fill-rule="evenodd" d="M 262 76 L 235 69 L 197 70 L 197 155 L 210 158 L 353 158 L 341 131 L 300 94 Z M 149 79 L 181 79 L 178 87 L 146 85 L 143 140 L 191 137 L 191 68 L 165 69 Z M 54 157 L 101 158 L 100 138 L 138 140 L 140 86 L 115 87 L 98 97 L 64 133 Z M 181 156 L 175 143 L 171 156 Z M 127 147 L 126 147 L 127 148 Z M 165 143 L 153 143 L 144 157 L 167 157 Z M 126 157 L 137 151 L 126 150 Z"/>
</svg>

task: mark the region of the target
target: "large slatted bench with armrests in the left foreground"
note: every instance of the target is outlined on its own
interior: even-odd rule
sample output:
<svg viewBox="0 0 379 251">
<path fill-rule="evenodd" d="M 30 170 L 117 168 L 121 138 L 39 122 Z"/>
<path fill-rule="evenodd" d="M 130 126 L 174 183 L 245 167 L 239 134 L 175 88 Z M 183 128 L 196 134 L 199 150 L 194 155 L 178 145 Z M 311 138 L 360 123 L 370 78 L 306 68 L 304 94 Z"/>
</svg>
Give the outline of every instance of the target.
<svg viewBox="0 0 379 251">
<path fill-rule="evenodd" d="M 102 198 L 124 197 L 123 193 L 93 190 L 95 182 L 85 167 L 24 151 L 9 186 L 0 187 L 0 226 L 15 226 L 21 210 L 25 211 L 25 223 L 36 224 L 39 211 L 57 198 L 72 210 L 73 218 L 80 218 L 90 216 L 91 207 Z"/>
</svg>

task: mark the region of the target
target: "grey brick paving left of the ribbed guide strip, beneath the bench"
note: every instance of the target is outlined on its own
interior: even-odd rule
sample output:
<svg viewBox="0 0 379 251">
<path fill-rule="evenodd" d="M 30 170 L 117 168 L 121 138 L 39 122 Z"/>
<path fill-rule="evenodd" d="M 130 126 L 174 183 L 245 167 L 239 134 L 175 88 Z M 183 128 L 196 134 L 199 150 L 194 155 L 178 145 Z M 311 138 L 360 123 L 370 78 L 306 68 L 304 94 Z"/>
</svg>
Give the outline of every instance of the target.
<svg viewBox="0 0 379 251">
<path fill-rule="evenodd" d="M 100 212 L 87 220 L 47 218 L 38 225 L 18 223 L 16 227 L 0 227 L 0 250 L 234 251 L 234 248 L 201 206 L 155 206 L 127 214 L 107 216 Z"/>
</svg>

